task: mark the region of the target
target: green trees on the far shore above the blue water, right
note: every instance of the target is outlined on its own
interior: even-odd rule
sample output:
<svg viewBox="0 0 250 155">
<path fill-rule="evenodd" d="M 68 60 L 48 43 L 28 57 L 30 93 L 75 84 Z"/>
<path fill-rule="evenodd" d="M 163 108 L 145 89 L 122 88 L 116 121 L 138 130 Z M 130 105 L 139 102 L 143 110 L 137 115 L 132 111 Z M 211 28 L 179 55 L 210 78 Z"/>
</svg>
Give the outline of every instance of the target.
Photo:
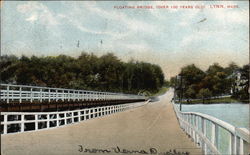
<svg viewBox="0 0 250 155">
<path fill-rule="evenodd" d="M 183 67 L 169 84 L 176 88 L 179 98 L 205 99 L 230 94 L 236 99 L 249 100 L 249 67 L 249 64 L 239 67 L 234 62 L 227 67 L 214 63 L 203 71 L 191 64 Z"/>
</svg>

